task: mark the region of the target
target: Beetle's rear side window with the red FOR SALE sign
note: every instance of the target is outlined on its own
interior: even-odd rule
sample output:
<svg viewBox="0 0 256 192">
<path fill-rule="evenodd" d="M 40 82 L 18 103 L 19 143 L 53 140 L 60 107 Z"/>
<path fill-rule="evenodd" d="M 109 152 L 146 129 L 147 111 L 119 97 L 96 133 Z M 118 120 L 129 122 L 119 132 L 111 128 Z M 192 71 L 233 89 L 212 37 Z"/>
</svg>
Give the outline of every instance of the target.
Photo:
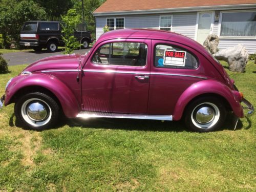
<svg viewBox="0 0 256 192">
<path fill-rule="evenodd" d="M 157 45 L 155 48 L 155 67 L 196 69 L 198 61 L 186 50 L 170 45 Z"/>
</svg>

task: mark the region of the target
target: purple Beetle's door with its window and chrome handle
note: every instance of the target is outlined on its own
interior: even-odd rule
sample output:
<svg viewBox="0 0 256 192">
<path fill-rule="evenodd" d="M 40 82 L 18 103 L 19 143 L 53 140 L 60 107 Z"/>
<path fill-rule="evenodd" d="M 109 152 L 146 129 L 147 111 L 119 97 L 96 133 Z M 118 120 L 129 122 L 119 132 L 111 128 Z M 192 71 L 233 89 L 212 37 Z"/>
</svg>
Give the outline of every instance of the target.
<svg viewBox="0 0 256 192">
<path fill-rule="evenodd" d="M 98 44 L 83 67 L 84 111 L 145 114 L 150 84 L 151 40 Z"/>
</svg>

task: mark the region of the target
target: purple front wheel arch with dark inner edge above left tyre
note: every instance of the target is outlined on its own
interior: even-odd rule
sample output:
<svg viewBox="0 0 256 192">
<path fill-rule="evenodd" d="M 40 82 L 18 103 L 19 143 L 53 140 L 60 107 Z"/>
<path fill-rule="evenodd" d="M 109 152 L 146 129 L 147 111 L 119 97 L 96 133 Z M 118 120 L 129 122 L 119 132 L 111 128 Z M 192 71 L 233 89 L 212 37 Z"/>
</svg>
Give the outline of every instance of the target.
<svg viewBox="0 0 256 192">
<path fill-rule="evenodd" d="M 24 76 L 17 78 L 21 79 L 15 79 L 16 82 L 7 89 L 5 105 L 15 102 L 20 94 L 43 92 L 50 94 L 60 104 L 66 117 L 75 118 L 80 112 L 79 102 L 73 92 L 59 79 L 46 74 L 31 74 L 25 78 Z"/>
</svg>

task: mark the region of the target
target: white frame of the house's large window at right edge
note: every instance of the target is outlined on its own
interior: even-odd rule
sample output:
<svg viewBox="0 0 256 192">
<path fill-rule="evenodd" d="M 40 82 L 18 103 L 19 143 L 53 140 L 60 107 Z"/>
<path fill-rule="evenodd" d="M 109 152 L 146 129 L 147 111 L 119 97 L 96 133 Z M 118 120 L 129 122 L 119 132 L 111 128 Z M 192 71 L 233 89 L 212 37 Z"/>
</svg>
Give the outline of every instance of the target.
<svg viewBox="0 0 256 192">
<path fill-rule="evenodd" d="M 242 12 L 255 12 L 255 9 L 250 10 L 231 10 L 231 11 L 221 11 L 220 12 L 220 19 L 218 24 L 218 36 L 220 39 L 256 39 L 255 36 L 221 36 L 221 23 L 222 23 L 222 15 L 223 13 L 242 13 Z"/>
</svg>

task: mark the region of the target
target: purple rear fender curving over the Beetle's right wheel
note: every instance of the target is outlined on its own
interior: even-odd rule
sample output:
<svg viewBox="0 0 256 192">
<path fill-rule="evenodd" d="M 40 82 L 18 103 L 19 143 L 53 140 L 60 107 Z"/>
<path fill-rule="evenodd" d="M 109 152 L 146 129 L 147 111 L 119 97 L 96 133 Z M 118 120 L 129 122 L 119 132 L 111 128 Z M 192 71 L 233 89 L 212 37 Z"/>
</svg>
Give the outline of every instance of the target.
<svg viewBox="0 0 256 192">
<path fill-rule="evenodd" d="M 224 83 L 217 80 L 208 79 L 194 83 L 178 99 L 174 109 L 173 119 L 180 120 L 189 101 L 204 94 L 215 94 L 223 97 L 229 103 L 236 116 L 244 117 L 243 108 L 238 98 L 239 94 L 234 92 L 237 91 L 232 91 Z"/>
</svg>

